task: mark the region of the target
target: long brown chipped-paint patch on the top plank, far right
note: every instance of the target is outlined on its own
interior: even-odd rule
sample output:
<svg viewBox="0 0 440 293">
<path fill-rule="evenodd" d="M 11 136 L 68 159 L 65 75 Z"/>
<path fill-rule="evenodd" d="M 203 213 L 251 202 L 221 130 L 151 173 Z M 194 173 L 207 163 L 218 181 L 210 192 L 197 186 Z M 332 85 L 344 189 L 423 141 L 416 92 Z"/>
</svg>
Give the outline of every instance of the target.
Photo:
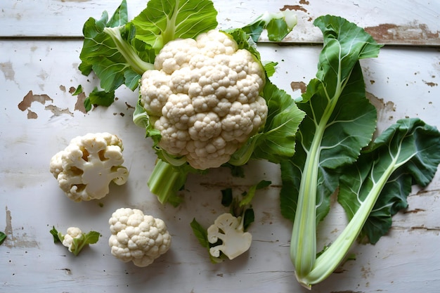
<svg viewBox="0 0 440 293">
<path fill-rule="evenodd" d="M 417 21 L 407 25 L 383 23 L 375 27 L 365 27 L 365 31 L 379 43 L 392 44 L 436 44 L 440 45 L 440 32 L 433 32 L 425 24 Z"/>
</svg>

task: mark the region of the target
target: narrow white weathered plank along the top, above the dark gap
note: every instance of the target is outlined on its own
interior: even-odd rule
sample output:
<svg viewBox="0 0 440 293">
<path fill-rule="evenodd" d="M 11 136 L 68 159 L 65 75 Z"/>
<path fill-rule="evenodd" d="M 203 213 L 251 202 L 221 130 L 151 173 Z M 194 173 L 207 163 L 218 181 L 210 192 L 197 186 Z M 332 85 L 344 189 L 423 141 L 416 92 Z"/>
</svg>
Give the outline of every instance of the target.
<svg viewBox="0 0 440 293">
<path fill-rule="evenodd" d="M 0 11 L 0 37 L 82 37 L 82 25 L 89 18 L 110 14 L 119 0 L 27 0 L 4 1 Z M 130 18 L 143 7 L 145 0 L 129 1 Z M 320 15 L 333 14 L 356 22 L 383 44 L 440 46 L 439 1 L 306 1 L 283 0 L 219 1 L 219 27 L 240 27 L 266 11 L 285 9 L 297 12 L 298 25 L 285 42 L 321 42 L 321 33 L 313 27 Z M 262 38 L 261 41 L 266 41 Z"/>
</svg>

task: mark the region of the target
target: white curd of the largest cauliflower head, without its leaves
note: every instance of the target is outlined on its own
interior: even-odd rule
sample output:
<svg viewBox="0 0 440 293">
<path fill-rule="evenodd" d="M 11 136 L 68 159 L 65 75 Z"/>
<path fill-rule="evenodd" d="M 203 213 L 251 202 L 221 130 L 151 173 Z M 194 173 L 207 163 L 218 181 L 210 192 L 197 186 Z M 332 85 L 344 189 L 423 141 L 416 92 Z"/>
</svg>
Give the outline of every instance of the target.
<svg viewBox="0 0 440 293">
<path fill-rule="evenodd" d="M 159 146 L 195 169 L 219 167 L 266 122 L 265 73 L 218 30 L 169 41 L 141 77 L 140 103 Z"/>
</svg>

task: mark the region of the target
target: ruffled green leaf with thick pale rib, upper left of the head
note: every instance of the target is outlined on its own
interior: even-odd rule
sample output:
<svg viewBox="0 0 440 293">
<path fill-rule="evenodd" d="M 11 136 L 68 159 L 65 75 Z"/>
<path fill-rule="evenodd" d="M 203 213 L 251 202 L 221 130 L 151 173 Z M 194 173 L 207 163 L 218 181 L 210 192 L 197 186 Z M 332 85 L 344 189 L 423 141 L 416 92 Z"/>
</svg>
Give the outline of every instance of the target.
<svg viewBox="0 0 440 293">
<path fill-rule="evenodd" d="M 127 2 L 123 0 L 110 20 L 104 11 L 101 19 L 89 18 L 84 23 L 79 70 L 85 75 L 93 70 L 106 92 L 115 91 L 122 84 L 136 89 L 141 74 L 153 68 L 148 52 L 152 49 L 135 43 L 135 28 L 127 21 Z"/>
</svg>

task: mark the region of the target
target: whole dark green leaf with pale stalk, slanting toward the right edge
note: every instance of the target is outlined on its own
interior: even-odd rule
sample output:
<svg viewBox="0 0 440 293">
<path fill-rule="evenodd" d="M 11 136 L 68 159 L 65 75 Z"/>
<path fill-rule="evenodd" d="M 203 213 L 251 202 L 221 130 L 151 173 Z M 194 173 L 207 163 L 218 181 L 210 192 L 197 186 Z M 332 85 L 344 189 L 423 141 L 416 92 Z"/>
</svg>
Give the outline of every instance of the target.
<svg viewBox="0 0 440 293">
<path fill-rule="evenodd" d="M 379 235 L 374 237 L 378 239 L 387 233 L 391 217 L 397 211 L 388 211 L 388 207 L 399 206 L 402 198 L 409 195 L 413 182 L 425 187 L 434 177 L 439 163 L 440 132 L 434 126 L 418 118 L 408 118 L 399 120 L 384 131 L 354 165 L 343 169 L 338 200 L 350 221 L 332 245 L 318 256 L 312 270 L 299 278 L 299 282 L 310 287 L 328 278 L 347 256 L 368 218 L 374 216 L 372 211 L 382 209 L 381 217 L 387 215 L 389 218 L 389 226 L 375 228 L 375 234 Z M 409 184 L 396 186 L 398 181 L 401 185 Z M 388 185 L 399 190 L 399 197 L 389 198 Z M 404 202 L 403 207 L 406 205 Z"/>
</svg>

